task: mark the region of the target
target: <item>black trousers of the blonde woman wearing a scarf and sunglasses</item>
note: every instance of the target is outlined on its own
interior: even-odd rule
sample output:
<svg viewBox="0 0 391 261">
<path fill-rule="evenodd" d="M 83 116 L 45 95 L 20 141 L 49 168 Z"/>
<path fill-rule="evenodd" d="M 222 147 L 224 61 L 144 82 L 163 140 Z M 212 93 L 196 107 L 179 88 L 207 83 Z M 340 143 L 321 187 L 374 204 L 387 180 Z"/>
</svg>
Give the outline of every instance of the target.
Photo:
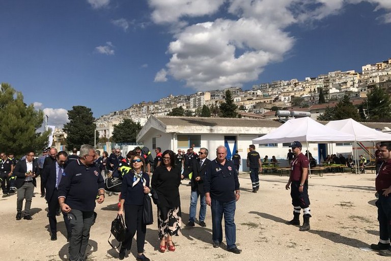
<svg viewBox="0 0 391 261">
<path fill-rule="evenodd" d="M 137 253 L 144 252 L 145 233 L 147 226 L 143 223 L 143 205 L 124 205 L 125 208 L 125 224 L 126 224 L 126 239 L 122 243 L 122 247 L 130 250 L 132 240 L 137 231 Z"/>
</svg>

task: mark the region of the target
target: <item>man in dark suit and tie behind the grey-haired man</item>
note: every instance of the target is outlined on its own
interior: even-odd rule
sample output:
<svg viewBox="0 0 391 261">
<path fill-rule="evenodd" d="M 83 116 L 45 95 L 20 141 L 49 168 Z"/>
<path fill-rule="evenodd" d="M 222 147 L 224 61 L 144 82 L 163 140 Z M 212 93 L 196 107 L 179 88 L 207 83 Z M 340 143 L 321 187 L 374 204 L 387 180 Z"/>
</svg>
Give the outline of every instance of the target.
<svg viewBox="0 0 391 261">
<path fill-rule="evenodd" d="M 64 172 L 64 165 L 67 162 L 67 152 L 60 151 L 57 153 L 57 160 L 51 165 L 47 166 L 41 174 L 42 182 L 45 183 L 45 199 L 47 201 L 47 206 L 49 209 L 48 218 L 49 218 L 49 226 L 51 231 L 50 240 L 57 240 L 57 219 L 55 218 L 57 211 L 60 207 L 59 199 L 58 199 L 58 187 L 60 184 L 60 180 L 62 174 Z M 69 220 L 66 213 L 63 212 L 65 227 L 67 228 L 67 239 L 69 242 L 71 232 L 69 226 Z"/>
</svg>

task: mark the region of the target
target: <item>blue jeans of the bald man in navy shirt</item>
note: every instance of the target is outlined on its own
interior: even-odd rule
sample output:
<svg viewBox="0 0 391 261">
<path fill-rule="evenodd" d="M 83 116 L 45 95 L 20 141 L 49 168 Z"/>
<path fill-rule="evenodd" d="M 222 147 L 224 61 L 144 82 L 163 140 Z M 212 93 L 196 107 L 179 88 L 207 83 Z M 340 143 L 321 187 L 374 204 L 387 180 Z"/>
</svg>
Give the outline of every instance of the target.
<svg viewBox="0 0 391 261">
<path fill-rule="evenodd" d="M 226 229 L 227 249 L 235 248 L 236 225 L 235 210 L 236 200 L 221 202 L 212 198 L 212 240 L 214 243 L 222 242 L 222 215 L 224 214 L 224 224 Z"/>
</svg>

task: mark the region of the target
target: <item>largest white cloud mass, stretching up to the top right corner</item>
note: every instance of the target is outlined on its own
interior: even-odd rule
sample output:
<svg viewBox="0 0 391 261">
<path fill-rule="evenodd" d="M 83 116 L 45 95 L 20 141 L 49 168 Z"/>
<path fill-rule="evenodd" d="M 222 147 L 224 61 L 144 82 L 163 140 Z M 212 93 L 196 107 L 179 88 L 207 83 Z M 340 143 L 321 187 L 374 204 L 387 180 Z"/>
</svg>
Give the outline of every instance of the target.
<svg viewBox="0 0 391 261">
<path fill-rule="evenodd" d="M 255 81 L 294 46 L 290 25 L 316 24 L 361 2 L 373 4 L 373 11 L 381 11 L 379 19 L 391 22 L 391 0 L 149 0 L 152 20 L 175 29 L 167 49 L 170 61 L 155 82 L 172 76 L 208 90 Z M 190 24 L 189 18 L 211 15 L 220 18 Z"/>
</svg>

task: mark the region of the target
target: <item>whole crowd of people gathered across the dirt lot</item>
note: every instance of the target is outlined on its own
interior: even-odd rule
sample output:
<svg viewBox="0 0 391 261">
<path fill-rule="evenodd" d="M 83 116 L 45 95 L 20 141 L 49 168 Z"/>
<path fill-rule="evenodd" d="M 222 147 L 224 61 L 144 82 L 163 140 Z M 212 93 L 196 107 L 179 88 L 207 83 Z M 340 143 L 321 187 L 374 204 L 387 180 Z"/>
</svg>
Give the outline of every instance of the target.
<svg viewBox="0 0 391 261">
<path fill-rule="evenodd" d="M 371 248 L 379 250 L 382 255 L 391 256 L 389 250 L 389 231 L 391 231 L 391 208 L 388 195 L 391 193 L 391 143 L 378 144 L 376 153 L 378 173 L 376 190 L 379 200 L 378 207 L 380 240 Z M 290 190 L 293 205 L 293 219 L 287 224 L 299 226 L 300 231 L 310 229 L 310 198 L 308 194 L 308 169 L 312 155 L 301 152 L 302 145 L 298 141 L 291 144 L 287 155 L 290 161 L 290 176 L 286 189 Z M 260 154 L 254 145 L 249 145 L 247 167 L 250 170 L 253 193 L 260 188 L 259 174 L 262 172 Z M 216 158 L 208 159 L 209 150 L 200 148 L 197 152 L 193 147 L 187 150 L 155 149 L 153 159 L 150 152 L 136 147 L 129 151 L 125 158 L 119 148 L 113 148 L 108 155 L 102 154 L 91 145 L 82 145 L 78 150 L 72 150 L 68 155 L 65 151 L 58 152 L 55 148 L 42 151 L 42 156 L 35 160 L 35 152 L 29 151 L 18 162 L 11 156 L 1 153 L 0 162 L 3 197 L 17 190 L 16 220 L 32 220 L 31 204 L 34 197 L 36 178 L 41 175 L 41 197 L 48 204 L 48 221 L 50 239 L 57 240 L 57 216 L 63 215 L 67 241 L 69 242 L 69 260 L 85 260 L 85 253 L 90 237 L 91 226 L 95 223 L 97 213 L 95 204 L 103 203 L 105 199 L 105 179 L 122 179 L 118 215 L 125 217 L 126 238 L 119 250 L 119 259 L 124 259 L 131 249 L 132 239 L 136 235 L 137 260 L 148 261 L 144 254 L 146 224 L 143 218 L 145 197 L 152 196 L 157 205 L 157 236 L 160 240 L 158 251 L 175 251 L 174 237 L 181 234 L 182 210 L 179 186 L 181 180 L 190 180 L 190 205 L 187 227 L 194 227 L 197 221 L 197 204 L 200 201 L 198 224 L 206 227 L 207 205 L 211 207 L 212 245 L 220 247 L 223 240 L 222 219 L 225 224 L 227 250 L 236 254 L 241 250 L 236 246 L 236 225 L 234 222 L 236 202 L 240 198 L 238 170 L 240 155 L 238 151 L 227 159 L 227 148 L 218 146 Z M 292 157 L 293 154 L 293 157 Z M 266 158 L 267 156 L 265 156 Z M 338 158 L 338 159 L 336 159 Z M 272 161 L 275 157 L 272 158 Z M 330 155 L 331 160 L 331 155 Z M 333 162 L 352 164 L 351 157 L 345 159 L 341 154 L 332 155 Z M 268 161 L 264 161 L 268 162 Z M 337 163 L 338 164 L 338 163 Z M 14 177 L 14 178 L 12 178 Z M 24 211 L 22 212 L 24 204 Z M 303 223 L 300 226 L 300 214 L 303 213 Z M 23 215 L 22 215 L 23 213 Z"/>
</svg>

